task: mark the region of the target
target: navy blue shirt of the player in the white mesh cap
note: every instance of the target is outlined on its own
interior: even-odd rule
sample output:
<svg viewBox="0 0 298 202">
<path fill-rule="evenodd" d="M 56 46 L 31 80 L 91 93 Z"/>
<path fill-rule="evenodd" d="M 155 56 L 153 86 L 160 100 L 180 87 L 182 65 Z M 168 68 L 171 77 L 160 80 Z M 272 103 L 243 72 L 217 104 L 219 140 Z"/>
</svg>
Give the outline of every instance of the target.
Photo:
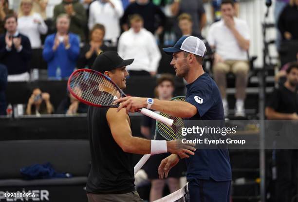
<svg viewBox="0 0 298 202">
<path fill-rule="evenodd" d="M 208 74 L 186 85 L 186 101 L 194 105 L 198 113 L 186 120 L 224 120 L 220 91 Z M 232 171 L 227 149 L 197 149 L 186 159 L 187 181 L 191 179 L 231 181 Z"/>
</svg>

